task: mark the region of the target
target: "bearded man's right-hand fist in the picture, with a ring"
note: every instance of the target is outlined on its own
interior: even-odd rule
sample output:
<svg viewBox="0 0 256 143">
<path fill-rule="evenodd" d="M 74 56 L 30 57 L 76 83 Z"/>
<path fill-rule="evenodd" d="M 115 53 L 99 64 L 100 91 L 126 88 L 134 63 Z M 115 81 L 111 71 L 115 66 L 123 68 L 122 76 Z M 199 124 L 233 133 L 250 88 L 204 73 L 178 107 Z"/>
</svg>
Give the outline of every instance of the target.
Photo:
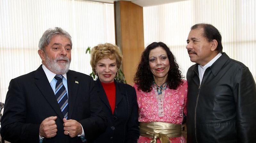
<svg viewBox="0 0 256 143">
<path fill-rule="evenodd" d="M 71 138 L 76 137 L 77 135 L 82 134 L 82 126 L 78 121 L 66 118 L 63 118 L 64 134 L 69 135 Z"/>
</svg>

